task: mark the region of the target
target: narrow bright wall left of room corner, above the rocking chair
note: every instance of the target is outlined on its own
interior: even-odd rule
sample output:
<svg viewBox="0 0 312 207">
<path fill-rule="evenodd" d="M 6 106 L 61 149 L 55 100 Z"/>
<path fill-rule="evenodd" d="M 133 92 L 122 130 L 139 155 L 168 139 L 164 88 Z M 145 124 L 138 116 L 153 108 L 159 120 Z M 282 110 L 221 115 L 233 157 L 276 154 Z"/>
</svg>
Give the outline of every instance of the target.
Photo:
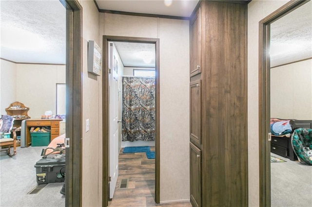
<svg viewBox="0 0 312 207">
<path fill-rule="evenodd" d="M 16 64 L 0 59 L 0 114 L 16 102 Z"/>
</svg>

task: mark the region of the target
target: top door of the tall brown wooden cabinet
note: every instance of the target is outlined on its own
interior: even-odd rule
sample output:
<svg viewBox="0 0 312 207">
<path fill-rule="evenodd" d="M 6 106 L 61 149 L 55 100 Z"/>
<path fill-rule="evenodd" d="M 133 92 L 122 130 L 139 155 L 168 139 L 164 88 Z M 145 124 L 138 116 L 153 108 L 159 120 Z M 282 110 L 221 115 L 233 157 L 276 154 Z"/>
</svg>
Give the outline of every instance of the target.
<svg viewBox="0 0 312 207">
<path fill-rule="evenodd" d="M 201 72 L 200 60 L 201 60 L 201 38 L 200 38 L 200 7 L 192 17 L 190 21 L 190 76 L 194 76 Z"/>
</svg>

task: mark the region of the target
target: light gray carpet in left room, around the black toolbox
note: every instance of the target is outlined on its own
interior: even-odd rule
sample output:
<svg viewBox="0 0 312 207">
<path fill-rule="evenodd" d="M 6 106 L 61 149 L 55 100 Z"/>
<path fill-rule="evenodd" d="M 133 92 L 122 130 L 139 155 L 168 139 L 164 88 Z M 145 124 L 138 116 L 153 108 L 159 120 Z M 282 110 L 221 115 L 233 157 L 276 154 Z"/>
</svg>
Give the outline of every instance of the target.
<svg viewBox="0 0 312 207">
<path fill-rule="evenodd" d="M 36 169 L 44 147 L 17 148 L 17 155 L 0 153 L 0 207 L 62 207 L 65 196 L 59 191 L 63 183 L 49 183 L 36 194 Z M 42 184 L 41 184 L 42 185 Z"/>
</svg>

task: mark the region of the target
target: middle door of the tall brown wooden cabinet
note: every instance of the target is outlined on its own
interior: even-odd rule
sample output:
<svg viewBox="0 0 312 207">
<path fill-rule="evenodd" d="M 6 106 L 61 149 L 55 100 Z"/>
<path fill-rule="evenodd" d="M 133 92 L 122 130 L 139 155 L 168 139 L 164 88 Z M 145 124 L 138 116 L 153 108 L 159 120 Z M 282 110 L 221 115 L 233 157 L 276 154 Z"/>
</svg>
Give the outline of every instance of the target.
<svg viewBox="0 0 312 207">
<path fill-rule="evenodd" d="M 201 144 L 201 82 L 190 83 L 190 137 L 200 148 Z"/>
</svg>

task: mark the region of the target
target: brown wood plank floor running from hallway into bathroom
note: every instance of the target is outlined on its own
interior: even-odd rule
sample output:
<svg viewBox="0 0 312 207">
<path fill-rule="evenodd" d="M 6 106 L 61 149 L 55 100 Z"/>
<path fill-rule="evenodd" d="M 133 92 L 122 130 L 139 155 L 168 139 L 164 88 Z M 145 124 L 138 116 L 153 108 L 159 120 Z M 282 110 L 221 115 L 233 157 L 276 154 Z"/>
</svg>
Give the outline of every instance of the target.
<svg viewBox="0 0 312 207">
<path fill-rule="evenodd" d="M 119 175 L 109 207 L 192 207 L 190 202 L 155 204 L 155 159 L 145 153 L 119 154 Z M 151 147 L 155 151 L 155 147 Z M 127 188 L 120 188 L 122 179 L 128 179 Z"/>
</svg>

